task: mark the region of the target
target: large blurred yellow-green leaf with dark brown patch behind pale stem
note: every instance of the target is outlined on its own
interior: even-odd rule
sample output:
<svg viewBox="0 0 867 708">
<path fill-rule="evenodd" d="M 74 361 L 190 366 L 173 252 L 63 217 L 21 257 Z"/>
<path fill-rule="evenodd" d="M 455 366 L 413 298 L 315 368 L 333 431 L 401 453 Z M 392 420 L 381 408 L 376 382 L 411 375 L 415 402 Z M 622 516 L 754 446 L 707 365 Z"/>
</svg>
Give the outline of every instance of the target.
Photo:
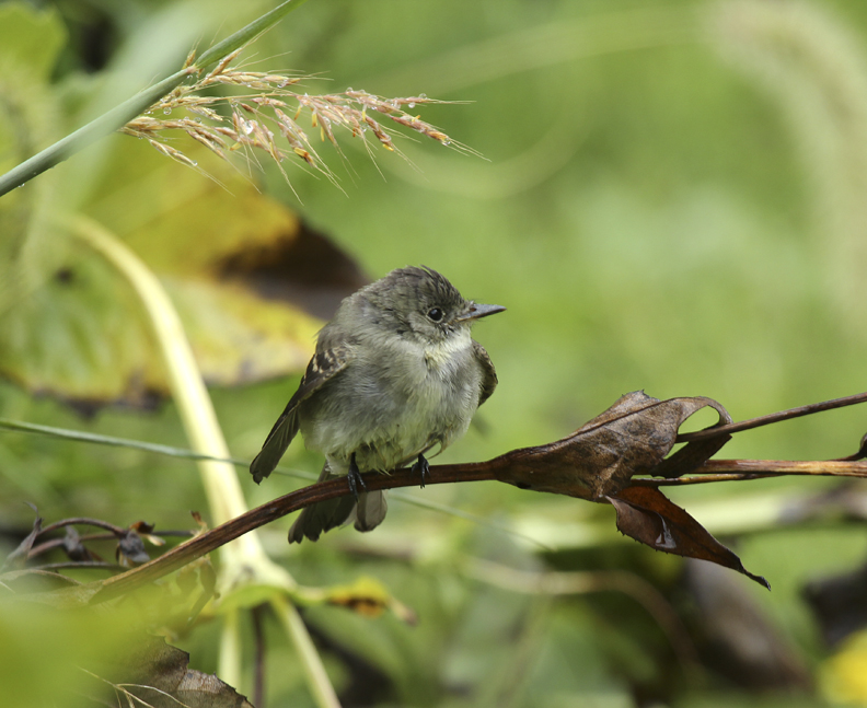
<svg viewBox="0 0 867 708">
<path fill-rule="evenodd" d="M 322 324 L 311 312 L 330 316 L 363 285 L 357 266 L 196 143 L 182 148 L 207 175 L 126 136 L 111 148 L 82 210 L 162 279 L 206 380 L 231 385 L 303 370 Z M 151 404 L 167 387 L 141 304 L 63 233 L 62 216 L 54 221 L 50 271 L 0 313 L 0 373 L 88 408 Z"/>
</svg>

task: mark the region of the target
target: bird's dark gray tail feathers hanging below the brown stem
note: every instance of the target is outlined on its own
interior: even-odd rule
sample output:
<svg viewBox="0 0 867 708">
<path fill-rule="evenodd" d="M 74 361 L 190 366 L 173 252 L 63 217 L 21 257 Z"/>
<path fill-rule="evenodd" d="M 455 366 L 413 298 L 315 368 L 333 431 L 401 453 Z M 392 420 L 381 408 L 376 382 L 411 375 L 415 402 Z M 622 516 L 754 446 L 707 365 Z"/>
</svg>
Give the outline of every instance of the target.
<svg viewBox="0 0 867 708">
<path fill-rule="evenodd" d="M 332 474 L 328 465 L 325 464 L 319 480 L 327 481 L 339 476 L 342 475 Z M 349 495 L 320 501 L 301 510 L 301 514 L 289 530 L 289 543 L 301 543 L 304 538 L 316 541 L 326 531 L 343 526 L 350 521 L 355 521 L 358 531 L 372 531 L 382 523 L 388 508 L 385 494 L 381 489 L 362 491 L 358 495 L 358 503 L 355 497 Z"/>
</svg>

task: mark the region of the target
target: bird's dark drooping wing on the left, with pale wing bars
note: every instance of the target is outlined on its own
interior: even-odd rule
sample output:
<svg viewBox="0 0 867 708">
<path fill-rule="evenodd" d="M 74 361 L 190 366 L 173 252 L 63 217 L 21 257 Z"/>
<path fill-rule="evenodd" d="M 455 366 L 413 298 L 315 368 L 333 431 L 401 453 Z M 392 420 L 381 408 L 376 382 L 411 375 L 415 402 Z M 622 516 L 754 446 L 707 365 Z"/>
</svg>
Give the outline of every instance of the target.
<svg viewBox="0 0 867 708">
<path fill-rule="evenodd" d="M 298 391 L 289 399 L 286 409 L 277 418 L 277 422 L 265 439 L 262 451 L 250 465 L 250 474 L 253 475 L 256 484 L 274 472 L 292 438 L 298 433 L 298 405 L 346 369 L 351 360 L 352 350 L 346 346 L 332 347 L 313 355 Z"/>
</svg>

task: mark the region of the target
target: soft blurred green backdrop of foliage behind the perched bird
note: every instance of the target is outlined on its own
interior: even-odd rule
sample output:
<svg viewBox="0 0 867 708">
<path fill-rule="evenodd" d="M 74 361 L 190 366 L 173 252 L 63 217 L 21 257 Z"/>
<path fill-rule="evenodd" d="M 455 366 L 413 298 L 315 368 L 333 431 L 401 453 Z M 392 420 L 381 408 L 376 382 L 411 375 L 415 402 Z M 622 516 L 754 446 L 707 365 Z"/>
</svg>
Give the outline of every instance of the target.
<svg viewBox="0 0 867 708">
<path fill-rule="evenodd" d="M 57 54 L 49 66 L 32 67 L 30 78 L 0 72 L 0 97 L 31 91 L 25 104 L 33 111 L 22 121 L 27 130 L 8 123 L 0 134 L 3 170 L 271 3 L 27 7 L 44 13 L 42 50 L 54 43 Z M 369 278 L 425 264 L 464 295 L 508 307 L 474 330 L 497 367 L 499 387 L 479 425 L 437 462 L 484 460 L 555 440 L 638 388 L 659 398 L 710 396 L 735 419 L 865 388 L 864 2 L 311 0 L 244 56 L 263 70 L 315 74 L 304 82 L 311 94 L 352 86 L 455 102 L 418 109 L 484 156 L 404 139 L 397 144 L 412 164 L 384 150 L 371 160 L 345 137 L 345 161 L 327 144 L 321 151 L 342 189 L 291 164 L 291 189 L 274 165 L 253 176 L 263 194 L 327 234 Z M 0 45 L 0 68 L 13 59 Z M 81 257 L 68 246 L 55 252 L 46 214 L 72 209 L 120 222 L 128 209 L 147 213 L 154 205 L 157 212 L 160 188 L 149 183 L 139 190 L 146 178 L 137 172 L 154 161 L 169 163 L 131 138 L 103 141 L 22 190 L 47 193 L 32 197 L 41 211 L 28 211 L 20 195 L 4 197 L 19 199 L 18 216 L 2 222 L 0 239 L 27 232 L 50 253 L 53 267 Z M 166 191 L 209 184 L 181 165 L 167 170 Z M 221 209 L 256 231 L 258 207 L 231 190 L 215 194 Z M 183 211 L 183 200 L 173 208 Z M 172 218 L 163 211 L 158 224 Z M 34 214 L 42 220 L 36 225 Z M 190 221 L 186 247 L 210 247 L 219 223 L 196 232 Z M 137 243 L 151 237 L 159 260 L 159 233 L 149 236 L 142 223 Z M 0 327 L 18 322 L 9 313 L 38 297 L 34 288 L 0 289 Z M 118 321 L 135 307 L 124 305 L 123 288 L 105 297 L 122 313 Z M 51 307 L 62 318 L 63 307 Z M 299 362 L 314 329 L 300 327 Z M 95 325 L 79 333 L 117 336 Z M 16 350 L 16 371 L 36 375 L 42 355 L 26 351 L 25 345 Z M 111 356 L 91 361 L 105 372 L 97 379 L 114 375 L 113 363 Z M 257 452 L 300 365 L 294 376 L 212 390 L 234 455 Z M 187 445 L 170 403 L 147 413 L 114 406 L 82 418 L 54 396 L 31 395 L 15 378 L 0 383 L 3 417 Z M 857 407 L 831 411 L 740 433 L 718 456 L 840 457 L 857 450 L 866 423 Z M 308 472 L 321 465 L 299 443 L 284 462 Z M 243 469 L 239 475 L 251 504 L 301 484 L 273 477 L 255 487 Z M 708 580 L 703 570 L 639 547 L 616 533 L 609 508 L 493 483 L 412 494 L 545 548 L 396 500 L 386 523 L 369 535 L 343 530 L 288 548 L 287 519 L 264 536 L 301 583 L 374 576 L 418 613 L 418 626 L 407 627 L 393 616 L 308 611 L 347 706 L 867 705 L 857 677 L 867 668 L 864 640 L 856 634 L 829 649 L 801 597 L 805 582 L 853 570 L 867 554 L 865 492 L 853 486 L 820 497 L 837 486 L 775 479 L 672 491 L 768 579 L 772 593 L 729 571 Z M 147 519 L 160 527 L 187 527 L 190 509 L 207 511 L 192 464 L 4 432 L 0 519 L 12 535 L 31 523 L 24 501 L 48 520 Z M 798 523 L 786 523 L 793 519 Z M 682 665 L 657 618 L 623 593 L 518 594 L 494 587 L 496 578 L 479 580 L 478 558 L 527 571 L 621 570 L 649 580 L 683 618 L 702 669 Z M 726 639 L 722 628 L 744 617 L 755 619 Z M 763 623 L 761 641 L 750 643 L 748 629 Z M 201 627 L 185 638 L 197 668 L 215 670 L 216 631 Z M 275 636 L 268 659 L 269 705 L 312 705 L 292 649 L 280 642 Z M 744 669 L 750 665 L 758 666 L 755 676 Z"/>
</svg>

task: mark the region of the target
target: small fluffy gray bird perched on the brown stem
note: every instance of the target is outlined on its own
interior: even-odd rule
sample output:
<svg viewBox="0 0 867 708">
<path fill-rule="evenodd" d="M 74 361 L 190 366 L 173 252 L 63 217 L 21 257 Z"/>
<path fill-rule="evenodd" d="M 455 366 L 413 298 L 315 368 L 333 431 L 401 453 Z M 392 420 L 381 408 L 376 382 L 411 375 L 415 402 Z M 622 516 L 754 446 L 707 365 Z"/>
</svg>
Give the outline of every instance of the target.
<svg viewBox="0 0 867 708">
<path fill-rule="evenodd" d="M 262 481 L 300 430 L 308 449 L 325 455 L 320 481 L 348 477 L 354 496 L 303 509 L 290 543 L 316 541 L 354 518 L 358 531 L 382 523 L 385 497 L 363 490 L 362 472 L 388 473 L 415 461 L 425 486 L 425 453 L 463 436 L 497 386 L 494 364 L 470 327 L 505 309 L 464 300 L 426 267 L 392 270 L 340 303 L 250 465 L 253 479 Z"/>
</svg>

